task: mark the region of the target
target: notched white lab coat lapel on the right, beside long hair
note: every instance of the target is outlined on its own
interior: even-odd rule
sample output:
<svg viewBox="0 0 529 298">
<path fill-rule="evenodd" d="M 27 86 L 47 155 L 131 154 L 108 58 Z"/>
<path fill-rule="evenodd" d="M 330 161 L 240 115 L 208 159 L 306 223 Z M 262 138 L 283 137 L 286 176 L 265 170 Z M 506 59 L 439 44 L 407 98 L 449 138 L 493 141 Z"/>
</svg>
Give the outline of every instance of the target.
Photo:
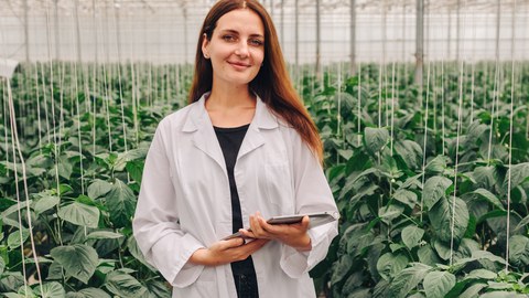
<svg viewBox="0 0 529 298">
<path fill-rule="evenodd" d="M 258 96 L 256 103 L 256 115 L 253 116 L 253 120 L 246 132 L 237 159 L 264 145 L 264 138 L 262 137 L 260 129 L 273 129 L 277 127 L 277 118 L 273 117 L 266 104 Z"/>
</svg>

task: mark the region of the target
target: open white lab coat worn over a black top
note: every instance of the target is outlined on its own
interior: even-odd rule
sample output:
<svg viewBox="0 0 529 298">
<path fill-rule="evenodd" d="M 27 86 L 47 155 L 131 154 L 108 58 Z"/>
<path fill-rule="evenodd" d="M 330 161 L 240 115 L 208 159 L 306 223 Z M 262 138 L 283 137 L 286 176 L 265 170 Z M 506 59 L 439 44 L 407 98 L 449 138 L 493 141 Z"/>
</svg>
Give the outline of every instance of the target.
<svg viewBox="0 0 529 298">
<path fill-rule="evenodd" d="M 165 117 L 147 156 L 133 232 L 147 260 L 173 286 L 173 297 L 237 297 L 231 267 L 187 263 L 201 247 L 231 234 L 224 156 L 204 103 Z M 260 98 L 234 170 L 242 222 L 336 211 L 322 167 L 298 132 Z M 337 224 L 311 228 L 312 251 L 269 242 L 252 254 L 260 298 L 315 297 L 309 270 L 325 258 Z"/>
</svg>

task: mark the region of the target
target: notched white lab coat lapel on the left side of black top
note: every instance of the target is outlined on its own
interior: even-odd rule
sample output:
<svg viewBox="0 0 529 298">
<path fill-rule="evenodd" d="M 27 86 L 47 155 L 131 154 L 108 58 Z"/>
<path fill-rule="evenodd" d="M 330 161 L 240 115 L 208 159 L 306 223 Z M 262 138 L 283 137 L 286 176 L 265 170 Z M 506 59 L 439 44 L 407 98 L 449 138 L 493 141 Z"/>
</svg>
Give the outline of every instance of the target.
<svg viewBox="0 0 529 298">
<path fill-rule="evenodd" d="M 187 119 L 185 120 L 183 131 L 193 134 L 193 145 L 212 158 L 226 173 L 226 163 L 224 161 L 223 151 L 218 143 L 217 136 L 213 129 L 212 120 L 207 115 L 204 106 L 205 94 L 192 107 Z"/>
</svg>

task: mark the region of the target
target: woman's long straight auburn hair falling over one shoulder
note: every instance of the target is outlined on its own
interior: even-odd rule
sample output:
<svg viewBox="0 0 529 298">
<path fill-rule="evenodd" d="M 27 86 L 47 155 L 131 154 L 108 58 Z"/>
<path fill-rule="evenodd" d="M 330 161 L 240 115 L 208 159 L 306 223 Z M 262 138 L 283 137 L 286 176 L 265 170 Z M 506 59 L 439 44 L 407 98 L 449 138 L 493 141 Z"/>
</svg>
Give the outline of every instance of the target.
<svg viewBox="0 0 529 298">
<path fill-rule="evenodd" d="M 218 19 L 237 9 L 252 10 L 261 18 L 264 26 L 264 60 L 249 84 L 250 89 L 259 95 L 273 114 L 291 125 L 323 162 L 323 146 L 317 128 L 292 86 L 272 20 L 257 0 L 220 0 L 207 13 L 198 34 L 190 104 L 198 100 L 213 86 L 212 62 L 202 53 L 204 38 L 212 40 Z"/>
</svg>

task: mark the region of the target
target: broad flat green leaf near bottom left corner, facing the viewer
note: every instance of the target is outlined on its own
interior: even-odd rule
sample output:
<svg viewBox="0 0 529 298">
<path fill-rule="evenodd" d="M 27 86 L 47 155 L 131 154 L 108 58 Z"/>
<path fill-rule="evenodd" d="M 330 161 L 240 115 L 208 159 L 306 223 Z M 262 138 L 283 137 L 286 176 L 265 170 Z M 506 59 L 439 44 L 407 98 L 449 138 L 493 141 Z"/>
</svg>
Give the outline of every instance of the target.
<svg viewBox="0 0 529 298">
<path fill-rule="evenodd" d="M 87 284 L 98 264 L 96 249 L 84 244 L 58 246 L 51 251 L 52 257 L 58 262 L 67 275 Z"/>
</svg>

